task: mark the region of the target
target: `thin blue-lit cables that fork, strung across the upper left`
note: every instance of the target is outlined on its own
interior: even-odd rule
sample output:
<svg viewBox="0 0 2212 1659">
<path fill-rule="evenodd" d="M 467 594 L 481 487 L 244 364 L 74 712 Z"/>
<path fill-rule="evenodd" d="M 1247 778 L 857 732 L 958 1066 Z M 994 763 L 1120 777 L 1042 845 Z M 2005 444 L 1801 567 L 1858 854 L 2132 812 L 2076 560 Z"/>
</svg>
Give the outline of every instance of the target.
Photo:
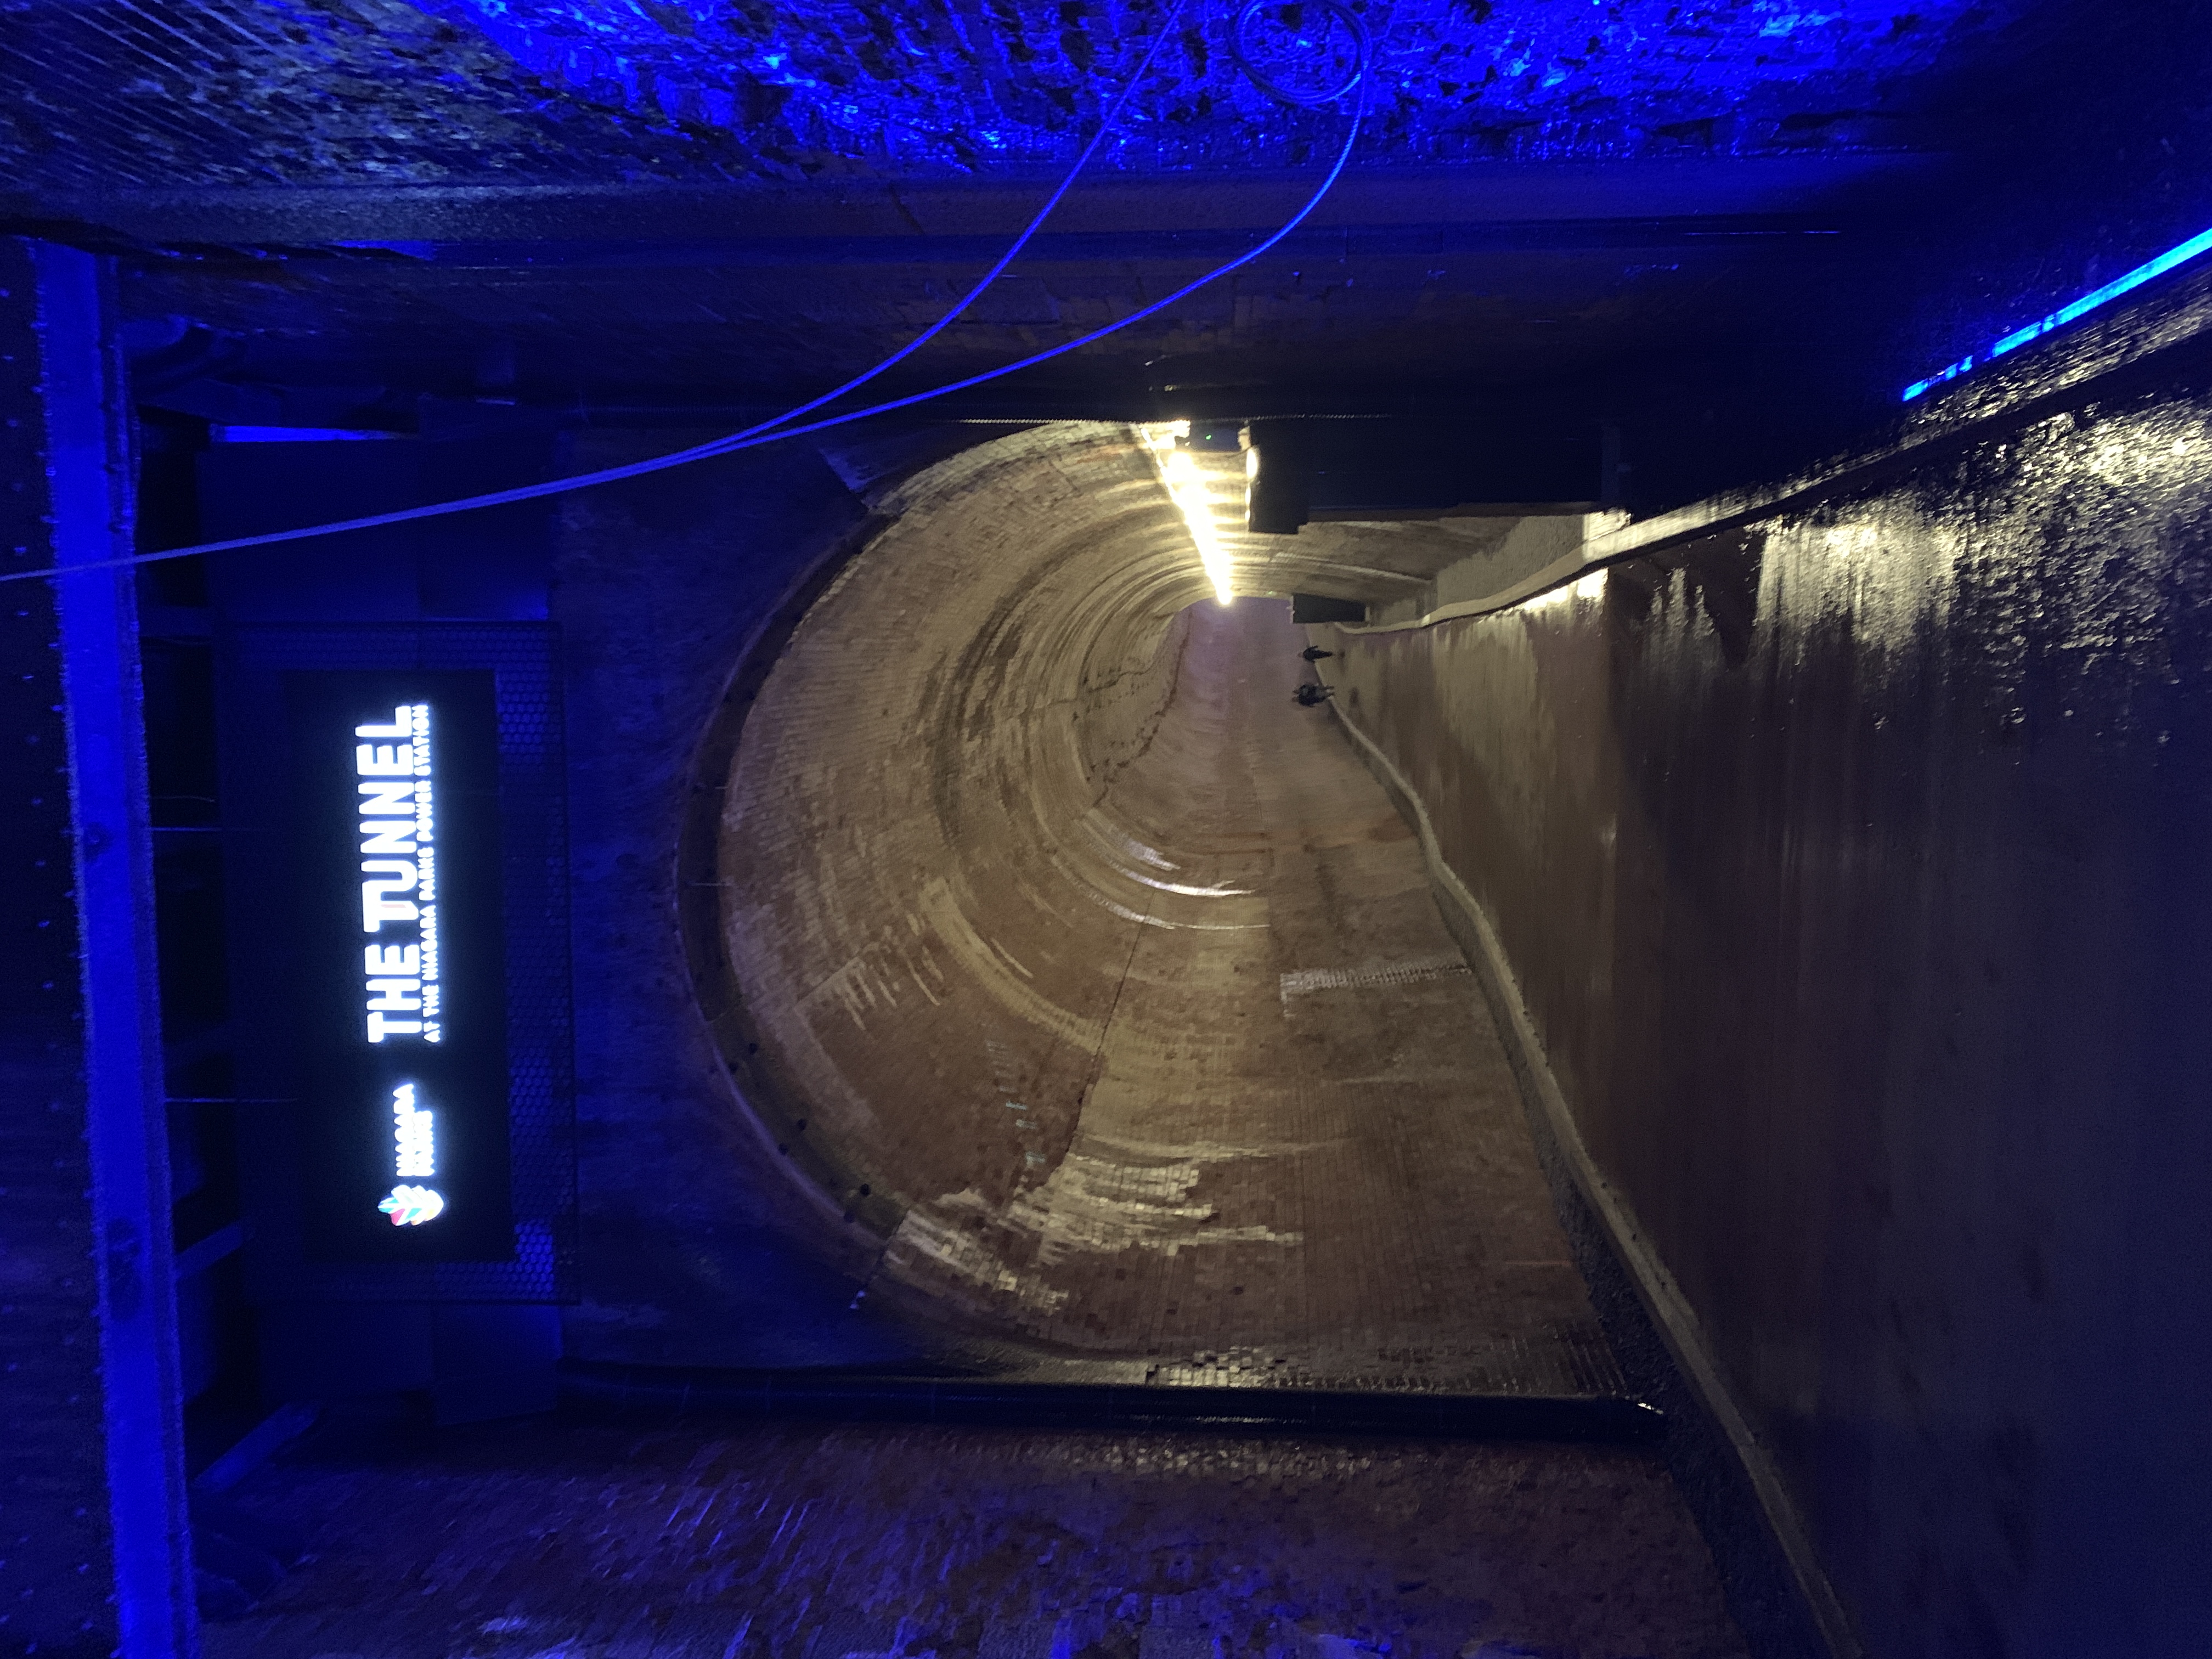
<svg viewBox="0 0 2212 1659">
<path fill-rule="evenodd" d="M 1177 11 L 1170 13 L 1168 22 L 1172 24 L 1175 15 L 1179 15 L 1179 13 L 1181 13 L 1181 2 L 1177 4 Z M 1146 64 L 1150 64 L 1152 53 L 1159 51 L 1159 44 L 1166 40 L 1166 33 L 1168 31 L 1161 29 L 1161 35 L 1146 51 L 1146 58 L 1144 58 Z M 1365 42 L 1363 42 L 1363 46 L 1365 46 Z M 1139 75 L 1141 75 L 1141 71 L 1144 71 L 1144 66 L 1139 66 Z M 1113 113 L 1117 113 L 1121 108 L 1121 102 L 1128 100 L 1130 91 L 1135 88 L 1135 84 L 1137 84 L 1137 80 L 1130 77 L 1130 84 L 1121 88 L 1121 97 L 1115 100 Z M 858 376 L 854 380 L 847 380 L 836 392 L 825 392 L 823 396 L 814 398 L 812 403 L 803 403 L 796 409 L 790 409 L 790 411 L 785 411 L 781 416 L 774 416 L 772 420 L 763 420 L 763 422 L 759 422 L 754 427 L 745 427 L 743 431 L 730 434 L 728 438 L 714 438 L 714 440 L 703 442 L 703 445 L 692 445 L 690 449 L 675 449 L 675 451 L 670 451 L 666 456 L 655 456 L 650 460 L 633 460 L 633 462 L 626 462 L 622 467 L 602 467 L 599 471 L 573 473 L 571 478 L 553 478 L 553 480 L 549 480 L 544 484 L 520 484 L 515 489 L 498 489 L 498 491 L 491 491 L 487 495 L 462 495 L 460 500 L 451 500 L 451 502 L 431 502 L 427 507 L 403 507 L 403 509 L 392 511 L 392 513 L 372 513 L 367 518 L 345 518 L 345 520 L 336 520 L 336 522 L 330 522 L 330 524 L 307 524 L 307 526 L 301 526 L 296 531 L 263 531 L 261 535 L 239 535 L 239 538 L 232 538 L 232 540 L 226 540 L 226 542 L 199 542 L 195 546 L 175 546 L 175 549 L 164 549 L 159 553 L 135 553 L 135 555 L 122 557 L 122 560 L 88 560 L 84 564 L 49 566 L 49 568 L 42 568 L 42 571 L 11 571 L 11 573 L 0 575 L 0 582 L 31 582 L 35 577 L 71 575 L 71 573 L 77 573 L 77 571 L 111 571 L 111 568 L 122 568 L 122 566 L 133 566 L 133 564 L 157 564 L 161 560 L 184 560 L 184 557 L 195 557 L 195 555 L 201 555 L 201 553 L 232 553 L 232 551 L 248 549 L 248 546 L 272 546 L 276 542 L 303 542 L 303 540 L 316 538 L 316 535 L 343 535 L 347 531 L 369 531 L 369 529 L 380 529 L 385 524 L 409 524 L 414 520 L 445 518 L 449 513 L 473 513 L 473 511 L 478 511 L 482 507 L 513 507 L 518 502 L 542 500 L 546 495 L 566 495 L 568 491 L 591 489 L 595 484 L 613 484 L 613 482 L 619 482 L 624 478 L 644 478 L 648 473 L 668 471 L 672 467 L 688 467 L 695 460 L 710 460 L 714 456 L 732 456 L 732 453 L 739 453 L 743 449 L 759 449 L 761 445 L 781 442 L 783 438 L 803 438 L 810 431 L 827 431 L 830 427 L 843 427 L 843 425 L 847 425 L 852 420 L 867 420 L 872 416 L 889 414 L 894 409 L 909 409 L 909 407 L 914 407 L 918 403 L 929 403 L 931 398 L 942 398 L 942 396 L 949 396 L 953 392 L 967 392 L 969 387 L 984 385 L 989 380 L 1000 380 L 1000 378 L 1004 378 L 1009 374 L 1020 374 L 1022 369 L 1031 369 L 1031 367 L 1035 367 L 1040 363 L 1048 363 L 1055 356 L 1066 356 L 1068 352 L 1082 349 L 1084 345 L 1091 345 L 1093 341 L 1102 341 L 1108 334 L 1117 334 L 1124 327 L 1130 327 L 1133 323 L 1141 323 L 1144 319 L 1155 316 L 1157 312 L 1166 310 L 1168 305 L 1175 305 L 1177 301 L 1183 301 L 1190 294 L 1199 292 L 1208 283 L 1214 283 L 1214 281 L 1228 276 L 1232 270 L 1241 270 L 1243 265 L 1250 265 L 1254 259 L 1259 259 L 1270 248 L 1274 248 L 1276 243 L 1281 243 L 1292 230 L 1296 230 L 1301 223 L 1305 223 L 1305 219 L 1314 212 L 1314 208 L 1321 206 L 1323 197 L 1327 197 L 1329 190 L 1336 188 L 1336 179 L 1343 175 L 1345 164 L 1352 159 L 1354 144 L 1358 144 L 1360 122 L 1367 115 L 1367 64 L 1365 62 L 1360 64 L 1360 73 L 1354 77 L 1354 82 L 1349 86 L 1345 86 L 1345 91 L 1354 91 L 1354 88 L 1358 88 L 1358 100 L 1354 102 L 1354 108 L 1352 108 L 1352 124 L 1345 131 L 1345 142 L 1336 150 L 1336 161 L 1329 166 L 1327 177 L 1323 177 L 1321 188 L 1316 188 L 1314 195 L 1310 195 L 1305 199 L 1305 206 L 1301 206 L 1290 219 L 1285 219 L 1283 226 L 1274 234 L 1270 234 L 1265 241 L 1256 243 L 1254 248 L 1248 248 L 1245 252 L 1241 252 L 1237 259 L 1228 261 L 1225 265 L 1217 265 L 1214 270 L 1206 272 L 1197 281 L 1190 281 L 1183 288 L 1177 288 L 1172 294 L 1166 294 L 1164 299 L 1157 299 L 1150 305 L 1144 305 L 1141 310 L 1135 310 L 1128 316 L 1124 316 L 1124 319 L 1119 319 L 1115 323 L 1108 323 L 1106 327 L 1091 330 L 1088 334 L 1079 334 L 1073 341 L 1064 341 L 1062 345 L 1053 345 L 1053 347 L 1046 347 L 1044 352 L 1035 352 L 1031 356 L 1024 356 L 1018 363 L 1006 363 L 1006 365 L 1002 365 L 998 369 L 984 369 L 982 374 L 971 374 L 964 380 L 951 380 L 951 383 L 933 387 L 929 392 L 916 392 L 916 394 L 905 396 L 905 398 L 891 398 L 889 403 L 874 403 L 874 405 L 869 405 L 865 409 L 849 409 L 845 414 L 830 416 L 827 420 L 810 420 L 810 422 L 805 422 L 801 427 L 787 427 L 787 425 L 783 425 L 783 422 L 787 422 L 787 420 L 792 420 L 792 418 L 796 418 L 801 414 L 807 414 L 812 409 L 823 407 L 832 398 L 843 396 L 845 392 L 849 392 L 849 389 L 854 389 L 858 385 L 865 385 L 867 380 L 874 380 L 878 374 L 883 374 L 894 363 L 898 363 L 900 358 L 905 358 L 911 352 L 916 352 L 920 345 L 925 345 L 929 338 L 933 338 L 938 332 L 942 332 L 953 319 L 958 319 L 960 312 L 967 310 L 982 294 L 982 290 L 989 288 L 991 281 L 995 281 L 998 274 L 1013 261 L 1013 257 L 1022 250 L 1022 246 L 1029 241 L 1029 237 L 1035 234 L 1037 226 L 1044 223 L 1044 215 L 1051 212 L 1051 208 L 1060 201 L 1062 195 L 1066 195 L 1068 186 L 1075 181 L 1075 173 L 1068 173 L 1068 177 L 1060 184 L 1060 190 L 1053 192 L 1053 199 L 1046 204 L 1044 212 L 1040 212 L 1031 221 L 1029 230 L 1022 232 L 1022 239 L 1015 241 L 1015 246 L 1006 250 L 1006 254 L 998 261 L 998 265 L 991 268 L 991 274 L 982 283 L 978 283 L 973 290 L 969 290 L 967 299 L 962 299 L 958 307 L 953 307 L 942 319 L 938 319 L 938 323 L 933 323 L 929 332 L 925 332 L 920 338 L 911 341 L 907 347 L 902 347 L 894 356 L 889 356 L 883 363 L 878 363 L 867 374 L 863 374 L 863 376 Z M 1108 113 L 1108 119 L 1113 117 L 1113 113 Z M 1097 150 L 1099 137 L 1104 137 L 1104 133 L 1106 133 L 1106 126 L 1102 124 L 1099 131 L 1097 131 L 1097 135 L 1093 135 L 1091 144 L 1084 148 L 1084 155 L 1077 159 L 1077 170 Z"/>
</svg>

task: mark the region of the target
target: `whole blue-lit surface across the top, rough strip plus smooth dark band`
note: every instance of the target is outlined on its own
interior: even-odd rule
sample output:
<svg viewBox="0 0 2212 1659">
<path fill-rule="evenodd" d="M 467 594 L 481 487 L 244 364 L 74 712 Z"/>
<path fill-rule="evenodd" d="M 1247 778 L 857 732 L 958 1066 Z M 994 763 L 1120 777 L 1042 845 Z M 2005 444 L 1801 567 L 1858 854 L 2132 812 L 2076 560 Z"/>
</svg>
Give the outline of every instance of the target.
<svg viewBox="0 0 2212 1659">
<path fill-rule="evenodd" d="M 2124 124 L 2068 126 L 2086 55 L 2112 60 L 2095 71 L 2112 108 L 2141 104 L 2086 0 L 1345 2 L 1376 46 L 1367 117 L 1312 221 L 958 414 L 1418 407 L 1575 442 L 1628 422 L 1637 478 L 1672 445 L 1688 480 L 1732 445 L 1754 465 L 1790 422 L 1847 425 L 1854 398 L 1891 409 L 1966 343 L 2212 221 L 2177 195 L 2137 223 L 2084 175 L 2070 219 L 2110 250 L 2053 257 L 2048 197 L 1984 206 L 2033 146 Z M 1265 15 L 1281 44 L 1323 13 Z M 887 394 L 1126 319 L 1283 223 L 1347 115 L 1270 100 L 1228 51 L 1232 15 L 1186 0 L 1044 234 Z M 137 392 L 184 416 L 745 420 L 940 319 L 1166 18 L 1161 0 L 0 0 L 0 230 L 122 257 Z M 2159 188 L 2181 190 L 2212 139 L 2157 119 L 2179 146 Z M 1997 243 L 2004 292 L 1980 276 Z M 2093 252 L 2112 263 L 2077 281 Z"/>
</svg>

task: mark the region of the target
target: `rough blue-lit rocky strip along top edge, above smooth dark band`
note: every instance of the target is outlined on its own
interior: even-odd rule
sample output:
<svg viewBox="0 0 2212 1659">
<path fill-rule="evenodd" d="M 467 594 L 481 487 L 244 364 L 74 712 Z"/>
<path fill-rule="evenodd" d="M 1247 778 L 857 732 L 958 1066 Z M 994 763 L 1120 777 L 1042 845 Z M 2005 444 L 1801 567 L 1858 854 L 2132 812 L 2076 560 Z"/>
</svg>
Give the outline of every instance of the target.
<svg viewBox="0 0 2212 1659">
<path fill-rule="evenodd" d="M 1360 161 L 1918 148 L 2031 0 L 1365 4 Z M 0 9 L 18 186 L 500 184 L 1040 166 L 1119 88 L 1139 0 L 148 0 Z M 1329 111 L 1270 102 L 1188 0 L 1108 170 L 1298 164 Z"/>
</svg>

